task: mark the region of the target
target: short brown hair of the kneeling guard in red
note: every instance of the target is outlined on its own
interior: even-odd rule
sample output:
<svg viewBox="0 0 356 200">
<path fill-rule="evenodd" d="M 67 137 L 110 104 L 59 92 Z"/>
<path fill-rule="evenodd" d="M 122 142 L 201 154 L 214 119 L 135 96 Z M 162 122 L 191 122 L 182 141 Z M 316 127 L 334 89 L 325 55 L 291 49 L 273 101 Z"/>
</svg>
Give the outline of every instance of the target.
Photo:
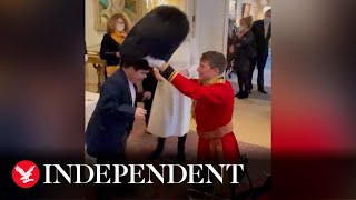
<svg viewBox="0 0 356 200">
<path fill-rule="evenodd" d="M 227 61 L 222 53 L 217 51 L 207 51 L 202 53 L 201 61 L 208 61 L 211 68 L 217 68 L 219 70 L 219 74 L 225 72 Z"/>
</svg>

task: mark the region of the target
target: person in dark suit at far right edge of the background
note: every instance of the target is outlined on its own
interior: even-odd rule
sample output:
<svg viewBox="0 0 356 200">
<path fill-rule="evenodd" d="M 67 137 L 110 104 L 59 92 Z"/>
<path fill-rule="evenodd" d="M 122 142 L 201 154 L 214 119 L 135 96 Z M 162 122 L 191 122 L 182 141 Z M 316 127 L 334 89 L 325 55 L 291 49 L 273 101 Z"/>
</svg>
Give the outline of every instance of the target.
<svg viewBox="0 0 356 200">
<path fill-rule="evenodd" d="M 251 64 L 249 77 L 253 79 L 255 63 L 257 63 L 257 87 L 261 93 L 267 93 L 264 88 L 264 70 L 268 58 L 269 40 L 271 37 L 271 9 L 265 12 L 265 19 L 255 21 L 251 28 L 257 46 L 257 58 Z"/>
</svg>

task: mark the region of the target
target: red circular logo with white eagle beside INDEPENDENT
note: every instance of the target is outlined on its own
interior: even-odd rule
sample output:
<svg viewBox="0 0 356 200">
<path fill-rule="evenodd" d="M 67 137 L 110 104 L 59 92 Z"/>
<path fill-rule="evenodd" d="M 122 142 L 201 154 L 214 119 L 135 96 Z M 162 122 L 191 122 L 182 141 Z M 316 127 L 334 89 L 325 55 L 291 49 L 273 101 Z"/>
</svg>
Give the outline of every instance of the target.
<svg viewBox="0 0 356 200">
<path fill-rule="evenodd" d="M 22 160 L 13 167 L 12 179 L 21 188 L 31 188 L 40 179 L 40 170 L 36 163 Z"/>
</svg>

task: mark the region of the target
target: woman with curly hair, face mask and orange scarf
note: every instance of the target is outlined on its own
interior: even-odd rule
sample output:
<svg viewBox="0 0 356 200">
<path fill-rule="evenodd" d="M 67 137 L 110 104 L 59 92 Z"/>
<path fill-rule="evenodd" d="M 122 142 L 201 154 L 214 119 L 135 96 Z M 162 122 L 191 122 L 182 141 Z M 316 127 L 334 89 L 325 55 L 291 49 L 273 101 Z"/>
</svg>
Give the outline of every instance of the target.
<svg viewBox="0 0 356 200">
<path fill-rule="evenodd" d="M 100 58 L 106 60 L 105 77 L 110 77 L 120 64 L 120 47 L 129 32 L 128 19 L 122 13 L 111 16 L 107 23 L 107 33 L 100 47 Z"/>
</svg>

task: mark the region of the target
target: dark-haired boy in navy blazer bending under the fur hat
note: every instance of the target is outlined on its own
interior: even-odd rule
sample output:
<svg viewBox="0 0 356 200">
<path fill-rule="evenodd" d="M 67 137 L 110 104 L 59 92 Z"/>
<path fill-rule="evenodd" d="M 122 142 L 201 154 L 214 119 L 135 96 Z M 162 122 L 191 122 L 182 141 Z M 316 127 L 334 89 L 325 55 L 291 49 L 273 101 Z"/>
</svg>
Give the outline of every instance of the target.
<svg viewBox="0 0 356 200">
<path fill-rule="evenodd" d="M 149 72 L 145 60 L 125 62 L 102 86 L 99 101 L 86 131 L 89 156 L 97 163 L 122 163 L 126 139 L 134 119 L 145 119 L 146 110 L 136 107 L 136 101 L 151 98 L 150 92 L 137 93 L 136 84 Z"/>
</svg>

